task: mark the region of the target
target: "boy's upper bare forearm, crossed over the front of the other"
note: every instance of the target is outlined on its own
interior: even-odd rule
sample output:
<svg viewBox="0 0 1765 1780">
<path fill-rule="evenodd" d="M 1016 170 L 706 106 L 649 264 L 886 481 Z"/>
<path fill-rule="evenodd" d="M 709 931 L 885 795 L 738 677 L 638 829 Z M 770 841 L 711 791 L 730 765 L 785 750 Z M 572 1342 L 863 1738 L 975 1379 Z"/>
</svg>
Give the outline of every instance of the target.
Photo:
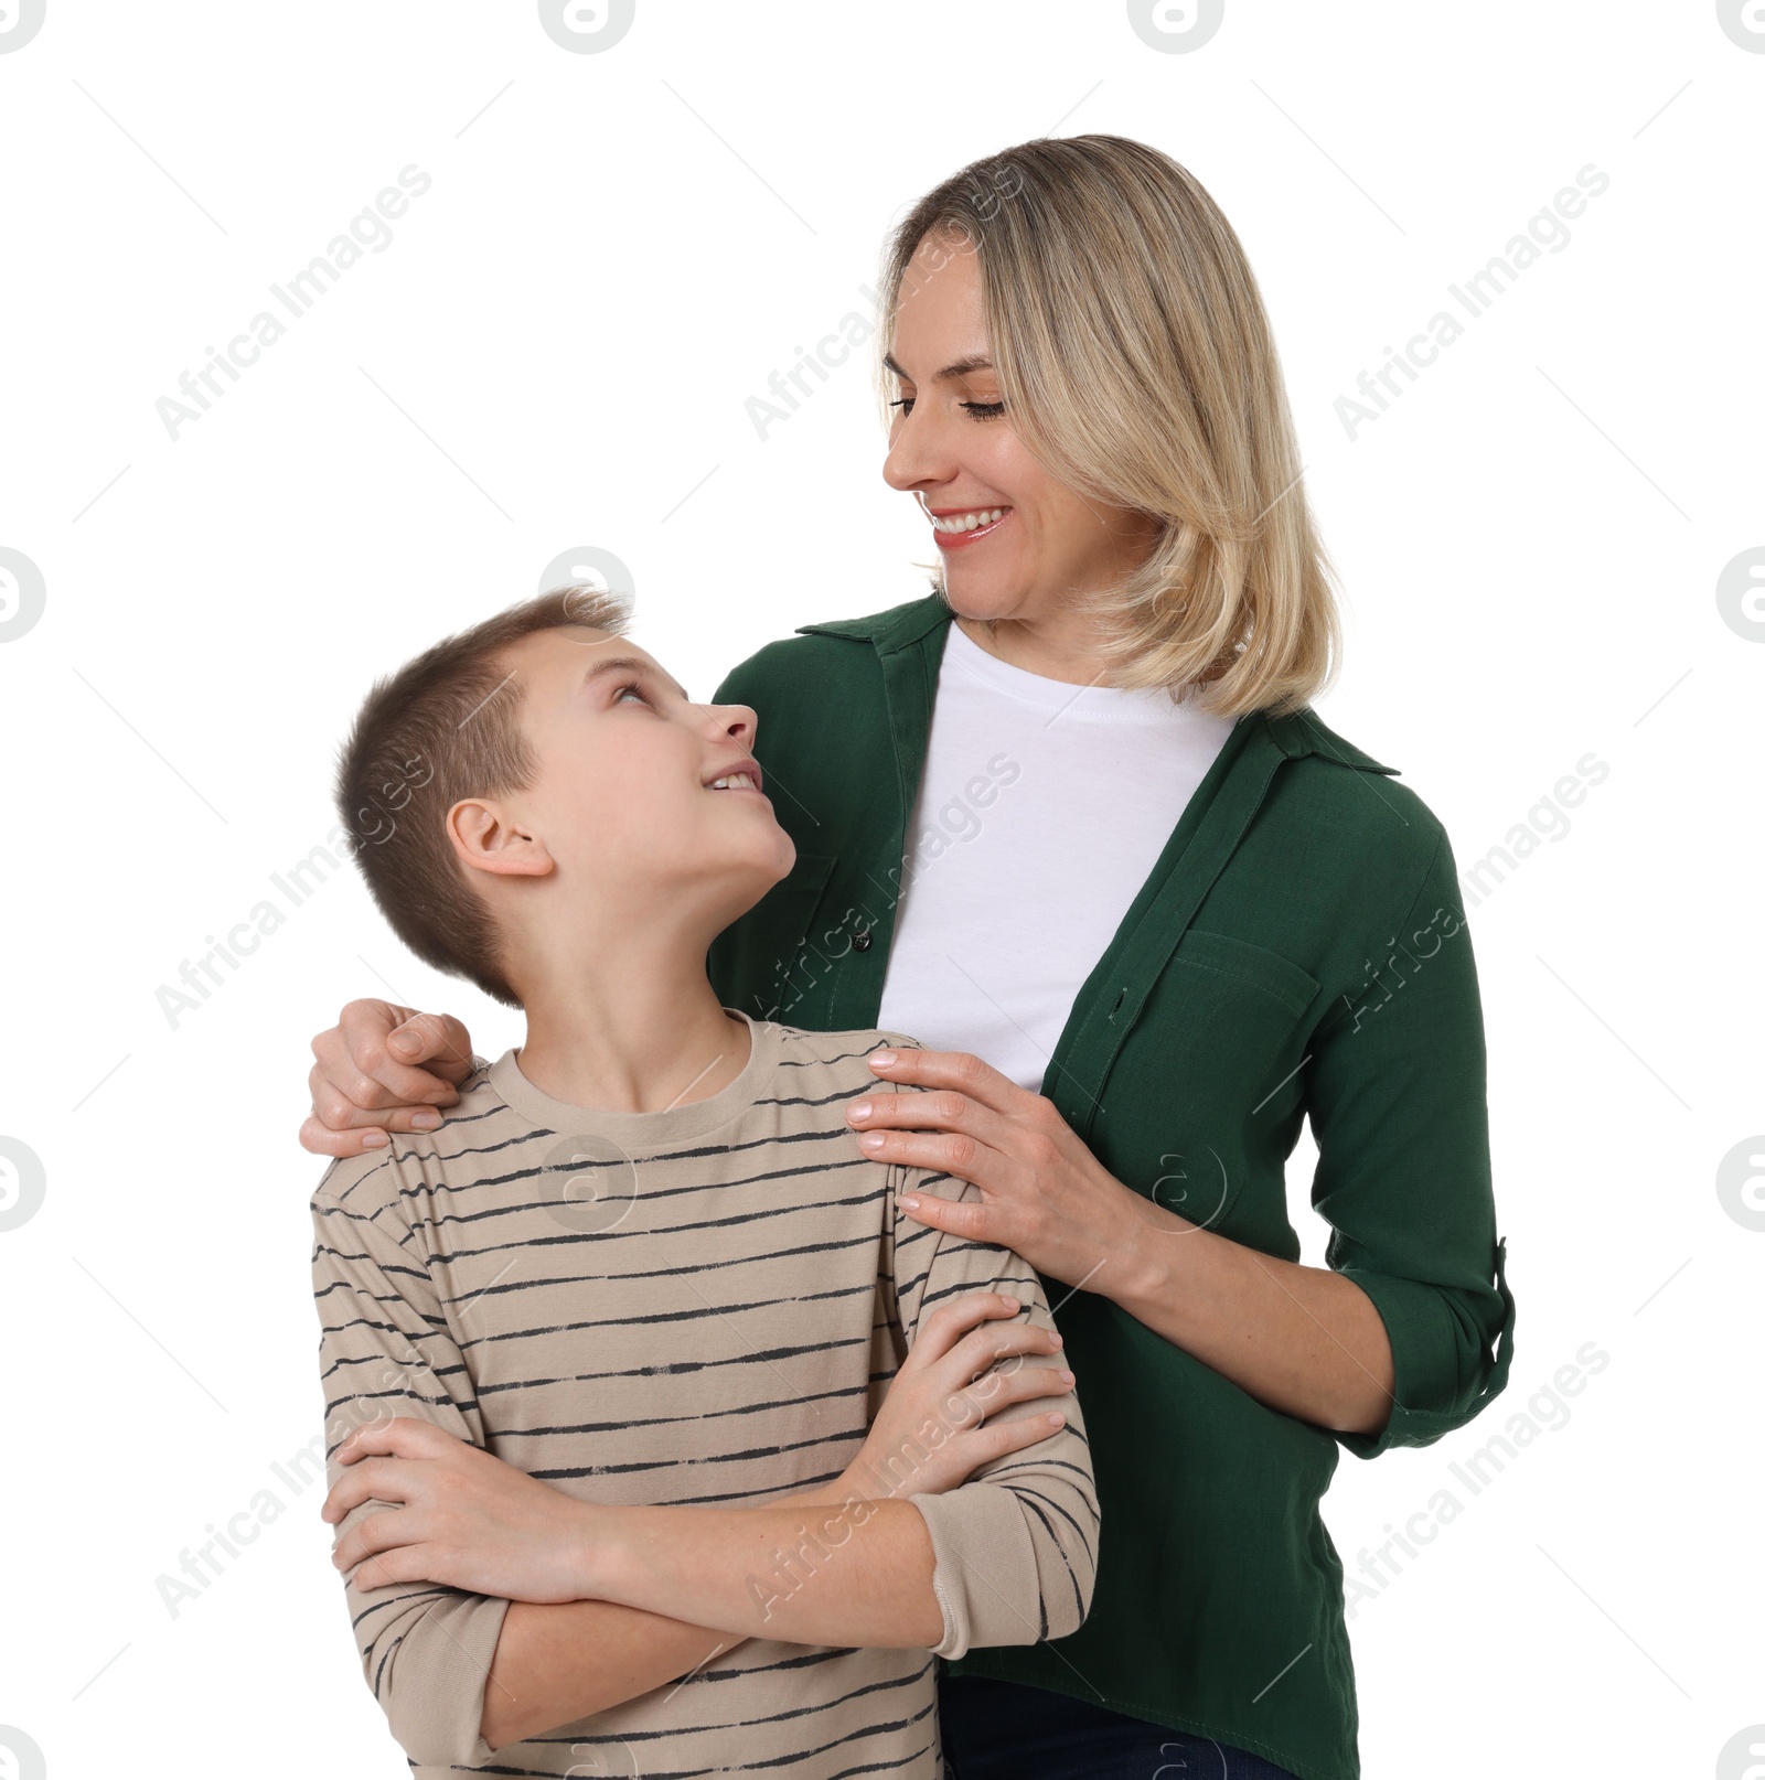
<svg viewBox="0 0 1765 1780">
<path fill-rule="evenodd" d="M 896 1650 L 944 1638 L 912 1502 L 595 1509 L 582 1561 L 584 1593 L 732 1636 Z"/>
</svg>

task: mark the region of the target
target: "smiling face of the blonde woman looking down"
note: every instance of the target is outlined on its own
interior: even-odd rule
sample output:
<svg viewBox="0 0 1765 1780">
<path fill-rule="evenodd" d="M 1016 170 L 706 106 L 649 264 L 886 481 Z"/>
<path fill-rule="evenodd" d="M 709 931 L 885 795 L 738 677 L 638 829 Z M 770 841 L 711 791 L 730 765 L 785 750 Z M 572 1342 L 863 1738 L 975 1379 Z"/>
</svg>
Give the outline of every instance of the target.
<svg viewBox="0 0 1765 1780">
<path fill-rule="evenodd" d="M 883 479 L 924 509 L 958 614 L 1045 621 L 1145 557 L 1156 520 L 1056 482 L 1012 431 L 980 262 L 960 237 L 914 253 L 887 363 L 899 386 Z"/>
</svg>

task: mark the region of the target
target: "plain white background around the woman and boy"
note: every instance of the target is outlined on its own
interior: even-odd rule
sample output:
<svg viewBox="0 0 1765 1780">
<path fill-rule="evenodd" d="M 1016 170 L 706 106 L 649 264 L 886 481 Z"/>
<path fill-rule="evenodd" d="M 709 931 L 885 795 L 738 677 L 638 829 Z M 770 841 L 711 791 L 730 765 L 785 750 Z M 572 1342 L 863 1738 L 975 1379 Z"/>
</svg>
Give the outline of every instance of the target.
<svg viewBox="0 0 1765 1780">
<path fill-rule="evenodd" d="M 1765 1232 L 1715 1184 L 1765 1130 L 1765 623 L 1715 591 L 1765 543 L 1761 103 L 1703 0 L 1229 0 L 1192 53 L 1118 4 L 639 0 L 588 55 L 524 0 L 48 0 L 0 55 L 0 546 L 46 586 L 0 643 L 0 1136 L 46 1178 L 0 1232 L 0 1723 L 53 1780 L 404 1773 L 322 1488 L 271 1470 L 321 1404 L 306 1043 L 372 993 L 518 1032 L 347 869 L 271 886 L 369 680 L 586 545 L 695 696 L 919 596 L 862 354 L 764 440 L 744 402 L 869 313 L 923 190 L 1086 130 L 1193 169 L 1261 281 L 1348 612 L 1325 721 L 1460 867 L 1610 767 L 1469 915 L 1517 1356 L 1471 1428 L 1343 1458 L 1348 1570 L 1512 1415 L 1546 1431 L 1357 1607 L 1364 1773 L 1717 1773 L 1765 1719 Z M 289 320 L 269 285 L 411 164 L 390 247 Z M 1464 320 L 1446 287 L 1587 166 L 1569 246 Z M 287 336 L 169 438 L 155 402 L 264 310 Z M 1336 399 L 1441 310 L 1464 338 L 1350 438 Z M 160 986 L 265 899 L 285 924 L 173 1025 Z M 1587 1342 L 1551 1428 L 1532 1392 Z M 159 1579 L 265 1488 L 285 1513 L 173 1614 Z"/>
</svg>

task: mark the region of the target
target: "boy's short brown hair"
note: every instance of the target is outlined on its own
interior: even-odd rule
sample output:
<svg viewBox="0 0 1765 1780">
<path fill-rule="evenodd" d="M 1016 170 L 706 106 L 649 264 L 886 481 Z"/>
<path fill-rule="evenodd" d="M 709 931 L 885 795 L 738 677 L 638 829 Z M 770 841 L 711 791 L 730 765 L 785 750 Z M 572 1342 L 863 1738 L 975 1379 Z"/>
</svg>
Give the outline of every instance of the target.
<svg viewBox="0 0 1765 1780">
<path fill-rule="evenodd" d="M 447 812 L 533 783 L 522 692 L 502 650 L 540 630 L 623 634 L 629 623 L 622 595 L 581 582 L 511 605 L 376 680 L 338 749 L 337 808 L 392 931 L 426 965 L 511 1007 L 520 997 L 502 972 L 500 934 L 454 856 Z"/>
</svg>

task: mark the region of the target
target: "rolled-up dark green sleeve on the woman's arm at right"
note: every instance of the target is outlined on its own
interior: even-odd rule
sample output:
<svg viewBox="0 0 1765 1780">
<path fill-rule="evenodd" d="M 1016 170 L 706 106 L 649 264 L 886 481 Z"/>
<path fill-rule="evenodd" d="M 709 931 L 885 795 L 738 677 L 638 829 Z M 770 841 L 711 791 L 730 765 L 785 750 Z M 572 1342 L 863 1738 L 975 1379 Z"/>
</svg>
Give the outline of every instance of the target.
<svg viewBox="0 0 1765 1780">
<path fill-rule="evenodd" d="M 1384 951 L 1314 1034 L 1307 1072 L 1325 1258 L 1373 1301 L 1391 1342 L 1389 1420 L 1336 1435 L 1357 1458 L 1464 1426 L 1500 1396 L 1514 1351 L 1476 961 L 1444 833 Z"/>
</svg>

